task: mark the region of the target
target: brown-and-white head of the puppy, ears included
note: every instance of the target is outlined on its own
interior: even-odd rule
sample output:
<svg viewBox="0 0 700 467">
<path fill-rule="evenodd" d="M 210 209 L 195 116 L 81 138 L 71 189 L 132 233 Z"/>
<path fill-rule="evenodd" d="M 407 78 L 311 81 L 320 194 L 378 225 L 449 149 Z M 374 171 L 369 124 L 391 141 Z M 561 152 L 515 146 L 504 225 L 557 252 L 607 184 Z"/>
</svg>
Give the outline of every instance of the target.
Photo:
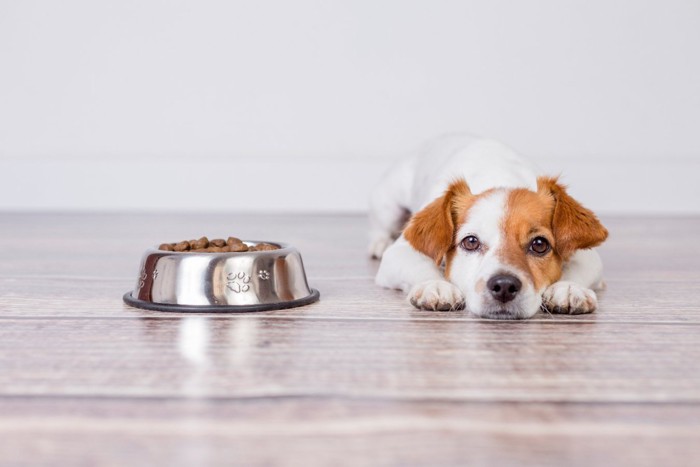
<svg viewBox="0 0 700 467">
<path fill-rule="evenodd" d="M 493 189 L 474 195 L 464 180 L 416 213 L 404 236 L 440 265 L 484 318 L 529 318 L 542 292 L 559 280 L 578 249 L 602 243 L 607 230 L 554 178 L 537 191 Z"/>
</svg>

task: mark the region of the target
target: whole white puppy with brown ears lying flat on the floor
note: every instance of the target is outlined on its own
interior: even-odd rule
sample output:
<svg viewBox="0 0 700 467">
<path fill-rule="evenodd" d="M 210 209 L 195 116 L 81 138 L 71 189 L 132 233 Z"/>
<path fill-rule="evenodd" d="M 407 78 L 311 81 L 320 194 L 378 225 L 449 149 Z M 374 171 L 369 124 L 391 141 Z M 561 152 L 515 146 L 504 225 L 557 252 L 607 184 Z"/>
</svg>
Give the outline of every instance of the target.
<svg viewBox="0 0 700 467">
<path fill-rule="evenodd" d="M 376 283 L 423 310 L 488 319 L 597 306 L 608 236 L 558 178 L 497 141 L 437 138 L 393 167 L 370 200 Z"/>
</svg>

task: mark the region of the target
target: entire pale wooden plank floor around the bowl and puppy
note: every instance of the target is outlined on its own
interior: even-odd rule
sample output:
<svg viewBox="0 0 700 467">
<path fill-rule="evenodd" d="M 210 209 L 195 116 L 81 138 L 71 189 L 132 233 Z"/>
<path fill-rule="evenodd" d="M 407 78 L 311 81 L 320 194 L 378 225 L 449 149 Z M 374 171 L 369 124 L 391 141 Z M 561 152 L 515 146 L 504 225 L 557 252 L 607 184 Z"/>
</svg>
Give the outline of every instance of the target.
<svg viewBox="0 0 700 467">
<path fill-rule="evenodd" d="M 586 316 L 421 312 L 372 282 L 363 217 L 0 214 L 1 465 L 700 465 L 700 218 L 604 219 Z M 321 301 L 121 301 L 141 252 L 302 252 Z"/>
</svg>

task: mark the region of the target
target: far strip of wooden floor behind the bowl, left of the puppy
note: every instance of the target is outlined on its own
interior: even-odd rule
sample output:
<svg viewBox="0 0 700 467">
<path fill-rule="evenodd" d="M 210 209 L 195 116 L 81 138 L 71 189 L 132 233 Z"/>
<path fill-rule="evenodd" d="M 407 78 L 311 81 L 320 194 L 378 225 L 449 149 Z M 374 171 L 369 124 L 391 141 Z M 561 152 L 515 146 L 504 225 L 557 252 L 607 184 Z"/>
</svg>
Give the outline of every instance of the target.
<svg viewBox="0 0 700 467">
<path fill-rule="evenodd" d="M 143 251 L 163 241 L 236 235 L 296 246 L 310 276 L 374 274 L 365 255 L 364 216 L 0 215 L 12 248 L 0 276 L 71 275 L 131 278 Z"/>
</svg>

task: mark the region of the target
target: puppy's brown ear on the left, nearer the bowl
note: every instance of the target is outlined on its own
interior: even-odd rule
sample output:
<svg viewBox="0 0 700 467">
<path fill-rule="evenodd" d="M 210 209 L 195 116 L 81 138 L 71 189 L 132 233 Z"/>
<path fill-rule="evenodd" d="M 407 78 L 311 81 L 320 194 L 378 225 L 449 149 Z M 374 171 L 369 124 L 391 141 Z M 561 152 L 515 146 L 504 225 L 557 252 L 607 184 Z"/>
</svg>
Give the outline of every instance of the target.
<svg viewBox="0 0 700 467">
<path fill-rule="evenodd" d="M 457 216 L 472 199 L 467 182 L 453 182 L 445 194 L 411 217 L 403 234 L 421 253 L 431 257 L 438 266 L 454 244 Z"/>
</svg>

